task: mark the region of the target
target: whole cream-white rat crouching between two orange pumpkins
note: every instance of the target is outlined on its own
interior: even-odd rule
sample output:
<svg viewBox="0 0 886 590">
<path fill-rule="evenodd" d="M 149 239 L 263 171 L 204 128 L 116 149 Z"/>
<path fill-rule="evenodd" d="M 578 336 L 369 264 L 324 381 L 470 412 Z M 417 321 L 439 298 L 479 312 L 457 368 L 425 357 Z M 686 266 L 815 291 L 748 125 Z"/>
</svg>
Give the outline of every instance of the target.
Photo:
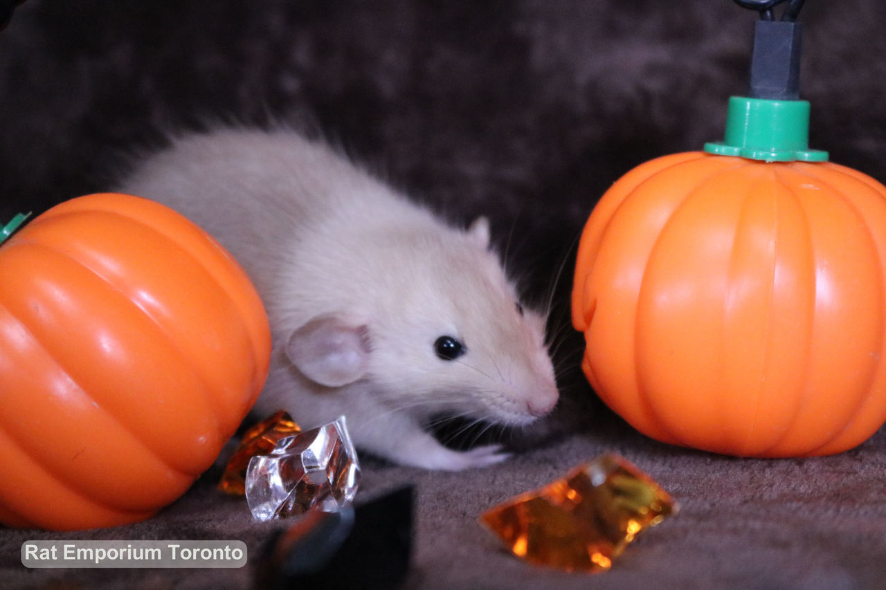
<svg viewBox="0 0 886 590">
<path fill-rule="evenodd" d="M 253 279 L 273 337 L 262 416 L 285 408 L 310 428 L 346 415 L 372 454 L 462 470 L 508 454 L 441 445 L 432 415 L 514 426 L 556 405 L 544 319 L 517 302 L 485 218 L 450 227 L 288 130 L 184 136 L 115 190 L 183 213 Z"/>
</svg>

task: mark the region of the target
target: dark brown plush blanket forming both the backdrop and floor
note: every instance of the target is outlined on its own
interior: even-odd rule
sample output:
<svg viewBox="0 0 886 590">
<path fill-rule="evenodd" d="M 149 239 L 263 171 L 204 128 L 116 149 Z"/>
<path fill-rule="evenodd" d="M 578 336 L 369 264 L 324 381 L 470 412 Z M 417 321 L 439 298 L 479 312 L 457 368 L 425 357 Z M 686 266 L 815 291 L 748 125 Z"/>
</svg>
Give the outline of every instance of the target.
<svg viewBox="0 0 886 590">
<path fill-rule="evenodd" d="M 730 0 L 27 0 L 0 33 L 0 221 L 104 190 L 121 153 L 176 129 L 308 120 L 455 220 L 489 215 L 530 298 L 553 293 L 563 403 L 507 437 L 520 453 L 462 473 L 364 462 L 358 502 L 416 485 L 408 587 L 886 587 L 884 431 L 814 459 L 664 446 L 590 402 L 577 370 L 568 291 L 587 214 L 631 167 L 722 136 L 754 18 Z M 801 20 L 811 147 L 886 180 L 886 4 L 808 0 Z M 610 450 L 681 507 L 611 571 L 526 565 L 478 525 Z M 0 529 L 0 586 L 252 586 L 275 525 L 217 493 L 218 475 L 141 524 Z M 35 571 L 19 562 L 33 539 L 243 540 L 251 558 L 240 570 Z"/>
</svg>

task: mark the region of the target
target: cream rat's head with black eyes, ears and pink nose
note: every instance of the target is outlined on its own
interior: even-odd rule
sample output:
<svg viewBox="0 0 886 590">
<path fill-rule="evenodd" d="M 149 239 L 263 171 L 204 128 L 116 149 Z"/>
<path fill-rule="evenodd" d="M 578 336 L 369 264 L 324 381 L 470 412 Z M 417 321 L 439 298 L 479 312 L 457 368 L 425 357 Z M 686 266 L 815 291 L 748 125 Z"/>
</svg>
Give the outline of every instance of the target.
<svg viewBox="0 0 886 590">
<path fill-rule="evenodd" d="M 287 346 L 295 366 L 330 387 L 371 382 L 392 408 L 420 417 L 520 425 L 548 414 L 557 390 L 544 317 L 518 301 L 488 248 L 486 220 L 466 232 L 388 238 L 387 272 L 361 287 L 383 304 L 295 330 Z"/>
</svg>

